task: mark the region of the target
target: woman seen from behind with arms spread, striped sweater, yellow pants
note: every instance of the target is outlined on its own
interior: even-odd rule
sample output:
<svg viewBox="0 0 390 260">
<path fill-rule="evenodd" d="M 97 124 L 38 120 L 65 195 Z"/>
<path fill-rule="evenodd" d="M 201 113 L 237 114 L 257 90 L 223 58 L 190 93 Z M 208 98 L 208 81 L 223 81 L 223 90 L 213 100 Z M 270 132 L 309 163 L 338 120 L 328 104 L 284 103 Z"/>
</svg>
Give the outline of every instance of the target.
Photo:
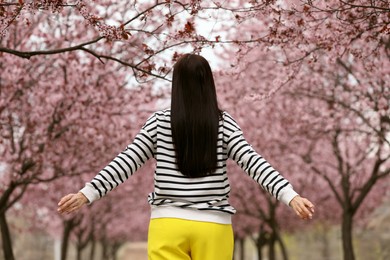
<svg viewBox="0 0 390 260">
<path fill-rule="evenodd" d="M 171 109 L 155 112 L 133 143 L 76 194 L 59 202 L 70 213 L 103 197 L 156 159 L 154 191 L 149 195 L 151 260 L 230 260 L 233 255 L 227 159 L 302 219 L 312 218 L 313 204 L 300 197 L 243 137 L 234 119 L 218 108 L 208 62 L 186 54 L 175 64 Z"/>
</svg>

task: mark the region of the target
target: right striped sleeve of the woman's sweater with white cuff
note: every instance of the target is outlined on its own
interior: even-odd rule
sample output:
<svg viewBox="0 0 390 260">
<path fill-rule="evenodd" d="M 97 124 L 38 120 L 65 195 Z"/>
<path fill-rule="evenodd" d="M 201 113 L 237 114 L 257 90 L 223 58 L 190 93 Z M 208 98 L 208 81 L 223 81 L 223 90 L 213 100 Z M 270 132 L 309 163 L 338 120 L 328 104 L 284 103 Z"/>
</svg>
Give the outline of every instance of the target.
<svg viewBox="0 0 390 260">
<path fill-rule="evenodd" d="M 298 195 L 292 185 L 245 140 L 237 123 L 227 117 L 227 154 L 261 187 L 287 206 Z"/>
</svg>

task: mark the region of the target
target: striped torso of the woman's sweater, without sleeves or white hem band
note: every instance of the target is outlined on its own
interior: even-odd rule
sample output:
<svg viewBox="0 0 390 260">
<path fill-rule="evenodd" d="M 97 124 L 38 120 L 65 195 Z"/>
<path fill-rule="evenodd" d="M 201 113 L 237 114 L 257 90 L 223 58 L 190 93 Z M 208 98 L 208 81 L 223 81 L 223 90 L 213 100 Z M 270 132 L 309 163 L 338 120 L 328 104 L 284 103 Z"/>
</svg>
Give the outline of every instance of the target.
<svg viewBox="0 0 390 260">
<path fill-rule="evenodd" d="M 227 141 L 232 133 L 239 131 L 234 120 L 223 114 L 217 135 L 217 168 L 197 178 L 183 175 L 177 167 L 170 120 L 170 110 L 159 111 L 143 127 L 153 140 L 156 159 L 155 189 L 149 195 L 149 203 L 234 213 L 227 201 L 230 186 L 226 175 Z"/>
</svg>

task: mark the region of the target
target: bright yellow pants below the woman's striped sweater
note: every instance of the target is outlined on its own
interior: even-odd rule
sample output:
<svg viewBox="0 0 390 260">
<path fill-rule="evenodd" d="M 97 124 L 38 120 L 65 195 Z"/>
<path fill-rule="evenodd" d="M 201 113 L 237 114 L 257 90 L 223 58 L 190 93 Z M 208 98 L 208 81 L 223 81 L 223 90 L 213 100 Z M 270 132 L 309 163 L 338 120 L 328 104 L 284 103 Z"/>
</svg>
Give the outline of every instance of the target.
<svg viewBox="0 0 390 260">
<path fill-rule="evenodd" d="M 149 260 L 231 260 L 232 225 L 177 218 L 151 219 Z"/>
</svg>

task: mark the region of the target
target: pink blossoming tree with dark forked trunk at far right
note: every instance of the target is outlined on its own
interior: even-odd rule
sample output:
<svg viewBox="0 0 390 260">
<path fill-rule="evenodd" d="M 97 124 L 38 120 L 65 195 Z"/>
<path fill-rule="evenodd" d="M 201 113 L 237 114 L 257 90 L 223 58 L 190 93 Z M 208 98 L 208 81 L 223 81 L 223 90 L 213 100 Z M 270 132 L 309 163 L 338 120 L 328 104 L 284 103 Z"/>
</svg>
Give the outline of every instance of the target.
<svg viewBox="0 0 390 260">
<path fill-rule="evenodd" d="M 354 42 L 354 48 L 363 50 L 365 44 Z M 286 56 L 277 48 L 245 49 L 233 72 L 218 75 L 224 86 L 222 101 L 230 104 L 238 120 L 250 118 L 249 129 L 268 129 L 259 134 L 266 137 L 261 142 L 264 150 L 285 150 L 284 158 L 306 169 L 306 181 L 293 178 L 298 189 L 316 183 L 330 191 L 316 194 L 313 189 L 309 194 L 321 205 L 317 216 L 342 223 L 344 259 L 354 259 L 353 218 L 364 219 L 388 188 L 382 180 L 389 175 L 387 51 L 382 45 L 369 56 L 348 51 L 337 58 L 317 50 L 316 59 L 301 59 L 294 74 L 283 74 L 288 70 L 279 58 Z M 253 101 L 257 108 L 246 104 Z M 332 208 L 332 214 L 321 208 Z"/>
</svg>

